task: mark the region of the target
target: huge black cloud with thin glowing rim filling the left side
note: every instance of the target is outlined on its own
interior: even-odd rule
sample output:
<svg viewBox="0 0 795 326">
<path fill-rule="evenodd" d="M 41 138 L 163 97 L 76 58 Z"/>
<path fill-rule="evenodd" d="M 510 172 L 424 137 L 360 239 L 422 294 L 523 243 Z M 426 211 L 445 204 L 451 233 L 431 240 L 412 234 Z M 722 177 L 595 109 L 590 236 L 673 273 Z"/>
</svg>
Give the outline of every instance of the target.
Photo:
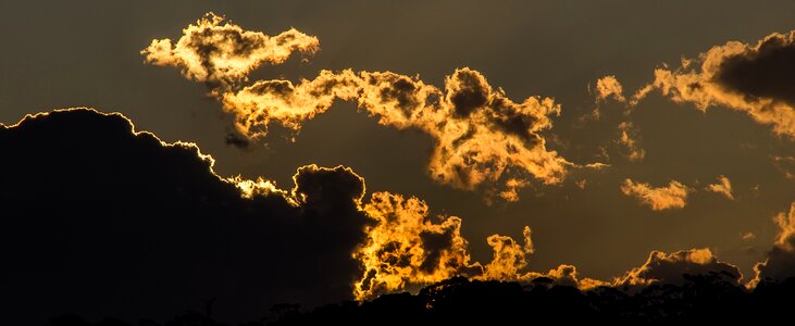
<svg viewBox="0 0 795 326">
<path fill-rule="evenodd" d="M 263 184 L 245 198 L 196 146 L 84 109 L 0 127 L 0 153 L 13 316 L 163 318 L 215 298 L 218 316 L 256 318 L 276 302 L 351 298 L 370 220 L 350 170 L 306 166 L 290 192 Z"/>
</svg>

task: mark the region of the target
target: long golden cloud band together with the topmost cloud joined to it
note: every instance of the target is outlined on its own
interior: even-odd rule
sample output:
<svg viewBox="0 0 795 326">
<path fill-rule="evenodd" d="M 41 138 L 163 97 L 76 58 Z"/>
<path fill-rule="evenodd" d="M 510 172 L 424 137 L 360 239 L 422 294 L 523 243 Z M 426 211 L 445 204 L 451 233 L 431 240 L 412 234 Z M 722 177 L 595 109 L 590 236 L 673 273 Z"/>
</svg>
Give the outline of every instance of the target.
<svg viewBox="0 0 795 326">
<path fill-rule="evenodd" d="M 295 29 L 285 34 L 270 38 L 209 14 L 186 27 L 176 46 L 156 39 L 141 53 L 149 63 L 178 66 L 191 79 L 210 82 L 224 110 L 235 116 L 236 128 L 249 138 L 265 136 L 271 123 L 297 133 L 339 99 L 356 101 L 381 125 L 433 137 L 428 174 L 456 188 L 488 185 L 489 193 L 517 201 L 518 190 L 531 178 L 560 184 L 577 166 L 548 150 L 542 135 L 551 128 L 559 104 L 539 97 L 514 102 L 467 67 L 448 76 L 444 89 L 418 77 L 352 70 L 321 71 L 314 79 L 298 83 L 259 80 L 237 87 L 262 62 L 280 63 L 291 51 L 318 50 L 316 38 Z"/>
</svg>

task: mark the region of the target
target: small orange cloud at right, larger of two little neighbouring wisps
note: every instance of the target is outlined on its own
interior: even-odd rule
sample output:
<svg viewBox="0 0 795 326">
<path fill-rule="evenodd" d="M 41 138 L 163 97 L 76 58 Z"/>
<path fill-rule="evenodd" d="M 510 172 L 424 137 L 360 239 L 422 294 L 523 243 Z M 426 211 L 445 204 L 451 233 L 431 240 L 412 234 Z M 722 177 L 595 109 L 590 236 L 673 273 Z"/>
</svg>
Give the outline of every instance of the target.
<svg viewBox="0 0 795 326">
<path fill-rule="evenodd" d="M 621 185 L 621 192 L 634 197 L 653 211 L 684 208 L 687 204 L 687 192 L 690 191 L 690 188 L 676 180 L 671 180 L 668 187 L 659 188 L 651 187 L 646 183 L 635 183 L 629 178 Z"/>
</svg>

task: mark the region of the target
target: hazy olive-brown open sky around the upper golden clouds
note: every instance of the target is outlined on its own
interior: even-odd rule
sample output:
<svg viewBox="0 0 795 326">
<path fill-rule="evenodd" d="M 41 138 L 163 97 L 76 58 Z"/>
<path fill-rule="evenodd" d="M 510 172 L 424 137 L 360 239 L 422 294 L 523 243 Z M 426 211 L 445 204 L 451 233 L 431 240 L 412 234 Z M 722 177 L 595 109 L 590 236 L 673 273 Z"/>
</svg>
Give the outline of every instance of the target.
<svg viewBox="0 0 795 326">
<path fill-rule="evenodd" d="M 795 183 L 771 160 L 794 155 L 791 139 L 721 108 L 706 113 L 658 93 L 635 109 L 646 158 L 630 162 L 616 145 L 623 106 L 603 105 L 603 118 L 577 126 L 594 108 L 588 85 L 616 75 L 632 92 L 654 68 L 695 58 L 729 40 L 756 42 L 795 29 L 792 1 L 18 1 L 2 2 L 0 123 L 55 108 L 117 111 L 138 129 L 166 141 L 199 145 L 223 176 L 264 176 L 289 187 L 308 163 L 352 167 L 368 191 L 424 199 L 434 213 L 463 218 L 474 259 L 488 261 L 486 237 L 519 237 L 533 229 L 530 267 L 561 263 L 585 276 L 609 278 L 644 262 L 650 250 L 708 247 L 721 260 L 750 267 L 762 260 L 778 229 L 771 217 L 795 200 Z M 548 147 L 575 163 L 605 162 L 601 172 L 575 171 L 560 186 L 534 183 L 517 203 L 487 204 L 483 195 L 434 183 L 426 174 L 432 139 L 378 126 L 352 103 L 337 102 L 308 122 L 295 143 L 272 129 L 266 143 L 246 150 L 224 143 L 228 117 L 173 68 L 145 65 L 139 51 L 153 38 L 176 39 L 206 12 L 224 14 L 249 30 L 274 35 L 296 27 L 320 38 L 310 62 L 293 58 L 251 77 L 312 78 L 318 71 L 352 67 L 419 74 L 442 86 L 457 67 L 483 73 L 521 101 L 552 97 L 562 105 Z M 681 210 L 655 212 L 624 196 L 625 178 L 703 189 L 725 175 L 734 201 L 696 191 Z M 574 181 L 586 178 L 580 189 Z M 741 239 L 754 233 L 756 238 Z"/>
</svg>

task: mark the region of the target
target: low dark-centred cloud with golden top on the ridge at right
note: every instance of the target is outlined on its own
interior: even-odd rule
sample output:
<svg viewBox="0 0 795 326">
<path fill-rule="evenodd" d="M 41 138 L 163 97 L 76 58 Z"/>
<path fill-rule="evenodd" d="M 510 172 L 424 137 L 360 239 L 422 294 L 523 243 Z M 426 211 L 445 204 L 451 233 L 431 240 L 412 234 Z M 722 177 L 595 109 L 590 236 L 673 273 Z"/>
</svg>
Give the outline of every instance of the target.
<svg viewBox="0 0 795 326">
<path fill-rule="evenodd" d="M 718 273 L 722 278 L 738 285 L 743 274 L 729 263 L 719 261 L 707 249 L 681 250 L 670 254 L 651 251 L 646 262 L 613 280 L 614 286 L 647 286 L 655 283 L 682 285 L 684 275 Z"/>
</svg>

